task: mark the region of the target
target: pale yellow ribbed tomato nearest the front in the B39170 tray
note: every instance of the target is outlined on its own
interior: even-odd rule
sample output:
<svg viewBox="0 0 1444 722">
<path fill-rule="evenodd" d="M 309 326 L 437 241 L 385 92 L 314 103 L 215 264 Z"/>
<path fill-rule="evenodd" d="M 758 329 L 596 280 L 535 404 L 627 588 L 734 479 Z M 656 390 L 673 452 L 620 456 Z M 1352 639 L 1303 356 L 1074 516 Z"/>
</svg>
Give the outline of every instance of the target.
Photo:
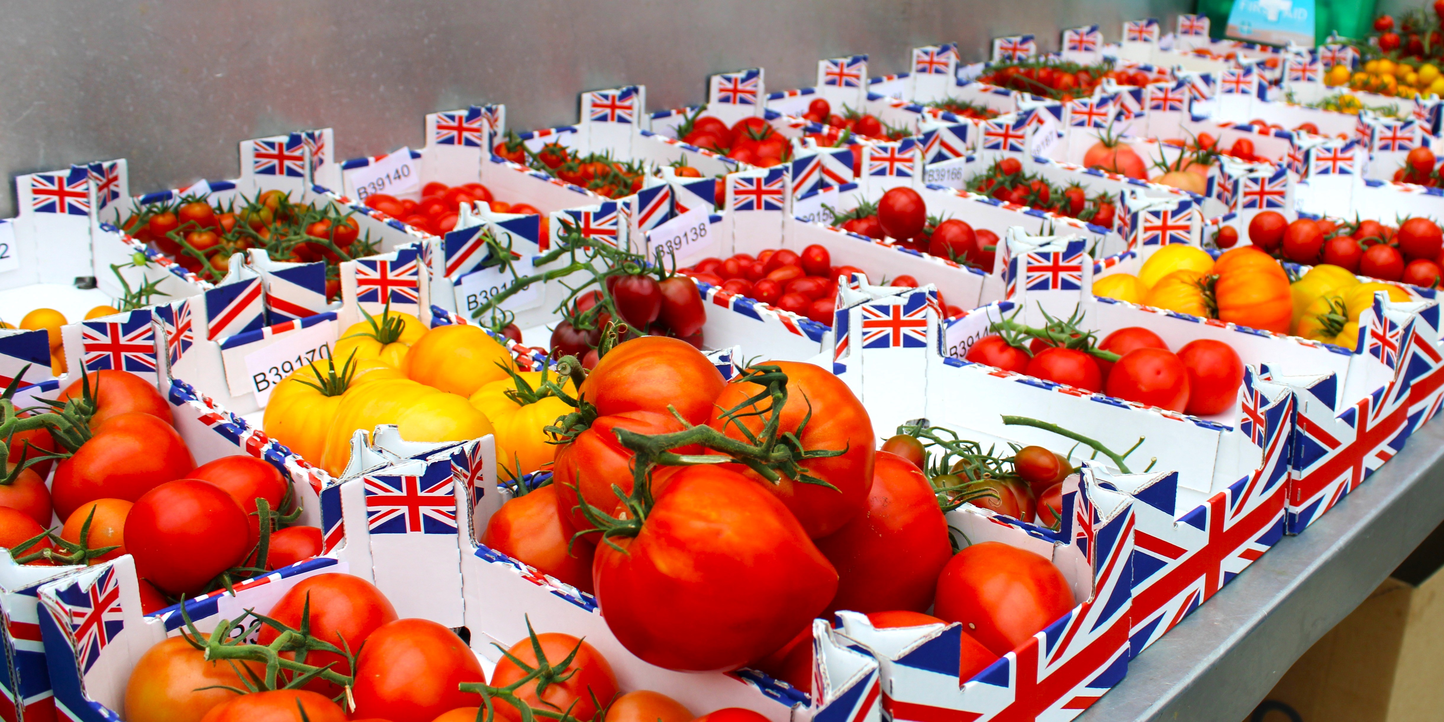
<svg viewBox="0 0 1444 722">
<path fill-rule="evenodd" d="M 459 442 L 492 433 L 491 422 L 466 397 L 410 378 L 384 378 L 341 396 L 321 468 L 339 477 L 351 459 L 351 435 L 358 429 L 371 433 L 380 425 L 396 425 L 409 442 Z"/>
</svg>

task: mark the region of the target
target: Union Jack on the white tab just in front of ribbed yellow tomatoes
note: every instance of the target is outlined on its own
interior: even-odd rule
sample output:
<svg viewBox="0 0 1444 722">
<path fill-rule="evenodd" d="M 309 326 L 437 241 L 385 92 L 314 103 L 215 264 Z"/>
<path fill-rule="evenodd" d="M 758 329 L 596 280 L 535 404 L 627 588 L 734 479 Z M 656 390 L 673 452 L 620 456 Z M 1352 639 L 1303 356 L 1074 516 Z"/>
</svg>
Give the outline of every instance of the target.
<svg viewBox="0 0 1444 722">
<path fill-rule="evenodd" d="M 451 468 L 435 468 L 446 474 L 365 477 L 365 516 L 373 534 L 456 533 L 456 492 Z"/>
</svg>

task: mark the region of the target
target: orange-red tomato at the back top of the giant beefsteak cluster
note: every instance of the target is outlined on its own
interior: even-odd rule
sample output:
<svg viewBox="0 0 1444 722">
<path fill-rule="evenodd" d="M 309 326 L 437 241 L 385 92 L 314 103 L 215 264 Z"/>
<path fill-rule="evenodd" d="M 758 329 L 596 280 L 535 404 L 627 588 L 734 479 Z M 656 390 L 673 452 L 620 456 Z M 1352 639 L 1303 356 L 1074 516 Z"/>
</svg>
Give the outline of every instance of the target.
<svg viewBox="0 0 1444 722">
<path fill-rule="evenodd" d="M 722 373 L 686 341 L 643 336 L 612 348 L 578 391 L 601 416 L 669 413 L 671 404 L 689 423 L 703 423 L 723 384 Z"/>
</svg>

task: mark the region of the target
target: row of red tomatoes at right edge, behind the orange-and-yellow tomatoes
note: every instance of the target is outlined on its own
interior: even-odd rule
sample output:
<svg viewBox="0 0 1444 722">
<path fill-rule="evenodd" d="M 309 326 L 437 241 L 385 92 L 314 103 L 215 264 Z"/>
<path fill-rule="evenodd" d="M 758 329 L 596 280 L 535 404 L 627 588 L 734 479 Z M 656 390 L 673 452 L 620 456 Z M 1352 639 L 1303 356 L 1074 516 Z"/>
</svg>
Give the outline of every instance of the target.
<svg viewBox="0 0 1444 722">
<path fill-rule="evenodd" d="M 1222 230 L 1220 230 L 1222 232 Z M 1300 218 L 1264 211 L 1249 221 L 1249 241 L 1276 258 L 1315 266 L 1327 263 L 1379 280 L 1434 287 L 1444 266 L 1444 234 L 1437 222 L 1412 217 L 1396 227 L 1356 219 Z M 1230 238 L 1236 238 L 1233 232 Z"/>
</svg>

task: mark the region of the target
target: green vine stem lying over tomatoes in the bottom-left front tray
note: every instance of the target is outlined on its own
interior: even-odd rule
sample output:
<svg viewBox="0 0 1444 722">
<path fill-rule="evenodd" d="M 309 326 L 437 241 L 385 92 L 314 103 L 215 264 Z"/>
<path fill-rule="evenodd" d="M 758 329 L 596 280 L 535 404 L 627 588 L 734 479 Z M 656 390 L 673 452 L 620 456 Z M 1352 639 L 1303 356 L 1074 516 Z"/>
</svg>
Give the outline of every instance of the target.
<svg viewBox="0 0 1444 722">
<path fill-rule="evenodd" d="M 302 608 L 299 628 L 290 627 L 263 614 L 257 614 L 254 609 L 247 609 L 235 619 L 219 619 L 215 630 L 212 630 L 209 637 L 206 637 L 195 627 L 195 622 L 191 621 L 191 617 L 186 614 L 183 605 L 180 606 L 180 618 L 185 621 L 180 635 L 191 644 L 191 647 L 205 653 L 206 660 L 228 660 L 232 663 L 253 661 L 266 666 L 266 671 L 263 674 L 257 674 L 250 664 L 238 664 L 238 669 L 245 671 L 240 676 L 245 689 L 230 686 L 224 689 L 235 692 L 237 695 L 277 689 L 302 689 L 309 682 L 319 679 L 344 687 L 342 693 L 335 697 L 335 702 L 344 702 L 348 710 L 355 709 L 355 703 L 351 699 L 354 677 L 334 671 L 331 667 L 335 666 L 335 663 L 328 663 L 323 667 L 306 664 L 306 653 L 325 651 L 344 657 L 349 664 L 349 669 L 354 670 L 357 669 L 355 656 L 360 653 L 360 650 L 352 653 L 345 640 L 341 640 L 344 647 L 336 647 L 335 644 L 310 634 L 309 592 L 306 593 L 306 602 Z M 250 624 L 247 624 L 248 618 L 253 619 Z M 257 638 L 263 625 L 274 628 L 279 632 L 276 640 L 270 644 L 247 643 L 245 640 Z"/>
</svg>

